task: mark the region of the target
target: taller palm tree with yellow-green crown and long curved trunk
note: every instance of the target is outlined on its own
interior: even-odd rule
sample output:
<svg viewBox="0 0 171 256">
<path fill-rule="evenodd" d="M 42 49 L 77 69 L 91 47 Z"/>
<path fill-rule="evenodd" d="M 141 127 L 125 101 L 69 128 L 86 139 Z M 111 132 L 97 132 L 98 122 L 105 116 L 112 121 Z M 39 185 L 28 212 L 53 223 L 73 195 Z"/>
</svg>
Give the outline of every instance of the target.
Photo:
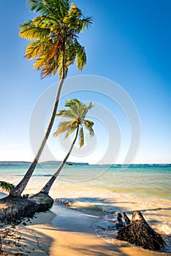
<svg viewBox="0 0 171 256">
<path fill-rule="evenodd" d="M 86 65 L 86 51 L 78 42 L 78 34 L 92 23 L 75 4 L 69 0 L 28 0 L 31 11 L 39 16 L 20 25 L 20 37 L 32 40 L 26 47 L 27 59 L 36 59 L 34 69 L 41 70 L 42 78 L 58 72 L 59 84 L 53 112 L 39 150 L 20 183 L 10 195 L 20 197 L 34 172 L 50 131 L 53 127 L 61 88 L 69 65 L 76 61 L 81 71 Z"/>
</svg>

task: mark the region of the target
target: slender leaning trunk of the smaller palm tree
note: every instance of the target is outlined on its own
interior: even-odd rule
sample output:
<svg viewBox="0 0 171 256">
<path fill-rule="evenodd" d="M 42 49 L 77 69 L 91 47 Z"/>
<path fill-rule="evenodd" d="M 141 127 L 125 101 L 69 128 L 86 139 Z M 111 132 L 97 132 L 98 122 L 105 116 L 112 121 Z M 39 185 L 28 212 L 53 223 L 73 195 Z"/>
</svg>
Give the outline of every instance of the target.
<svg viewBox="0 0 171 256">
<path fill-rule="evenodd" d="M 58 175 L 61 172 L 62 168 L 64 167 L 64 165 L 65 165 L 65 163 L 66 163 L 66 161 L 67 161 L 67 159 L 69 157 L 69 154 L 71 154 L 72 148 L 75 145 L 75 141 L 77 140 L 78 131 L 79 131 L 79 127 L 77 127 L 77 132 L 76 132 L 76 135 L 75 135 L 75 139 L 72 142 L 72 146 L 70 147 L 68 154 L 66 154 L 66 157 L 61 162 L 61 165 L 59 165 L 58 170 L 56 170 L 56 173 L 54 173 L 53 176 L 50 178 L 50 180 L 47 181 L 47 184 L 45 184 L 45 187 L 43 187 L 40 192 L 43 192 L 45 194 L 49 193 L 50 188 L 53 185 L 53 182 L 56 180 L 56 178 L 58 177 Z"/>
</svg>

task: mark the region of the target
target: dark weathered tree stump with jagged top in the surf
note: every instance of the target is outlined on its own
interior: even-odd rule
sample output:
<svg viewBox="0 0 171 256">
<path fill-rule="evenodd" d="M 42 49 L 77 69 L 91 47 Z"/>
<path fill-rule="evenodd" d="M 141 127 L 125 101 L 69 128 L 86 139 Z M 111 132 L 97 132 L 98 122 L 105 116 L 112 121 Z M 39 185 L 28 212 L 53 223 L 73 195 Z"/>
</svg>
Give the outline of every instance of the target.
<svg viewBox="0 0 171 256">
<path fill-rule="evenodd" d="M 144 249 L 159 250 L 164 247 L 164 240 L 145 221 L 140 211 L 134 211 L 132 222 L 123 214 L 126 225 L 118 230 L 117 239 L 130 244 L 142 246 Z"/>
</svg>

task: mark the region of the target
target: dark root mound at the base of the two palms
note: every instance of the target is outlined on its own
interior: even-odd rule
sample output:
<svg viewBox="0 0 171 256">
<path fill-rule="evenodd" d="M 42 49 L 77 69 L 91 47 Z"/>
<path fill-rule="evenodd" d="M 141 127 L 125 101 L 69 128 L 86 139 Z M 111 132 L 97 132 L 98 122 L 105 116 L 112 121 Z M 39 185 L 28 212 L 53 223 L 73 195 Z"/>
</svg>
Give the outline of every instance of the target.
<svg viewBox="0 0 171 256">
<path fill-rule="evenodd" d="M 7 196 L 0 199 L 1 222 L 20 222 L 24 217 L 32 217 L 36 212 L 47 211 L 53 206 L 53 199 L 42 192 L 33 197 Z"/>
</svg>

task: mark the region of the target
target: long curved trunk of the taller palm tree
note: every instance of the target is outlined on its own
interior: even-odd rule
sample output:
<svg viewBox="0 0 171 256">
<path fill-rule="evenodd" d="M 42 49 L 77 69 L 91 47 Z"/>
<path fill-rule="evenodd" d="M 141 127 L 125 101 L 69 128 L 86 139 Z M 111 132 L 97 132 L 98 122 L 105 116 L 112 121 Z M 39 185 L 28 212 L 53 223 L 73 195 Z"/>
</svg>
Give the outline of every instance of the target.
<svg viewBox="0 0 171 256">
<path fill-rule="evenodd" d="M 20 183 L 15 187 L 15 189 L 12 189 L 12 191 L 10 192 L 9 196 L 12 197 L 20 197 L 21 193 L 23 192 L 23 190 L 25 189 L 26 185 L 28 184 L 29 179 L 31 178 L 32 173 L 34 172 L 35 167 L 37 166 L 37 162 L 39 161 L 39 157 L 42 154 L 43 148 L 45 147 L 45 143 L 47 142 L 47 139 L 50 135 L 50 131 L 53 127 L 53 123 L 56 117 L 56 112 L 58 109 L 58 101 L 59 101 L 59 97 L 61 94 L 61 88 L 64 84 L 64 79 L 66 78 L 66 70 L 65 70 L 65 49 L 64 49 L 64 56 L 63 56 L 63 74 L 60 80 L 60 83 L 58 84 L 58 90 L 56 93 L 56 100 L 55 100 L 55 105 L 53 107 L 53 112 L 52 112 L 52 116 L 50 118 L 50 122 L 48 124 L 47 130 L 45 132 L 45 136 L 42 140 L 42 143 L 39 147 L 39 150 L 37 151 L 37 155 L 34 158 L 34 161 L 31 163 L 30 167 L 28 168 L 25 176 L 23 177 L 23 179 L 20 181 Z"/>
</svg>

